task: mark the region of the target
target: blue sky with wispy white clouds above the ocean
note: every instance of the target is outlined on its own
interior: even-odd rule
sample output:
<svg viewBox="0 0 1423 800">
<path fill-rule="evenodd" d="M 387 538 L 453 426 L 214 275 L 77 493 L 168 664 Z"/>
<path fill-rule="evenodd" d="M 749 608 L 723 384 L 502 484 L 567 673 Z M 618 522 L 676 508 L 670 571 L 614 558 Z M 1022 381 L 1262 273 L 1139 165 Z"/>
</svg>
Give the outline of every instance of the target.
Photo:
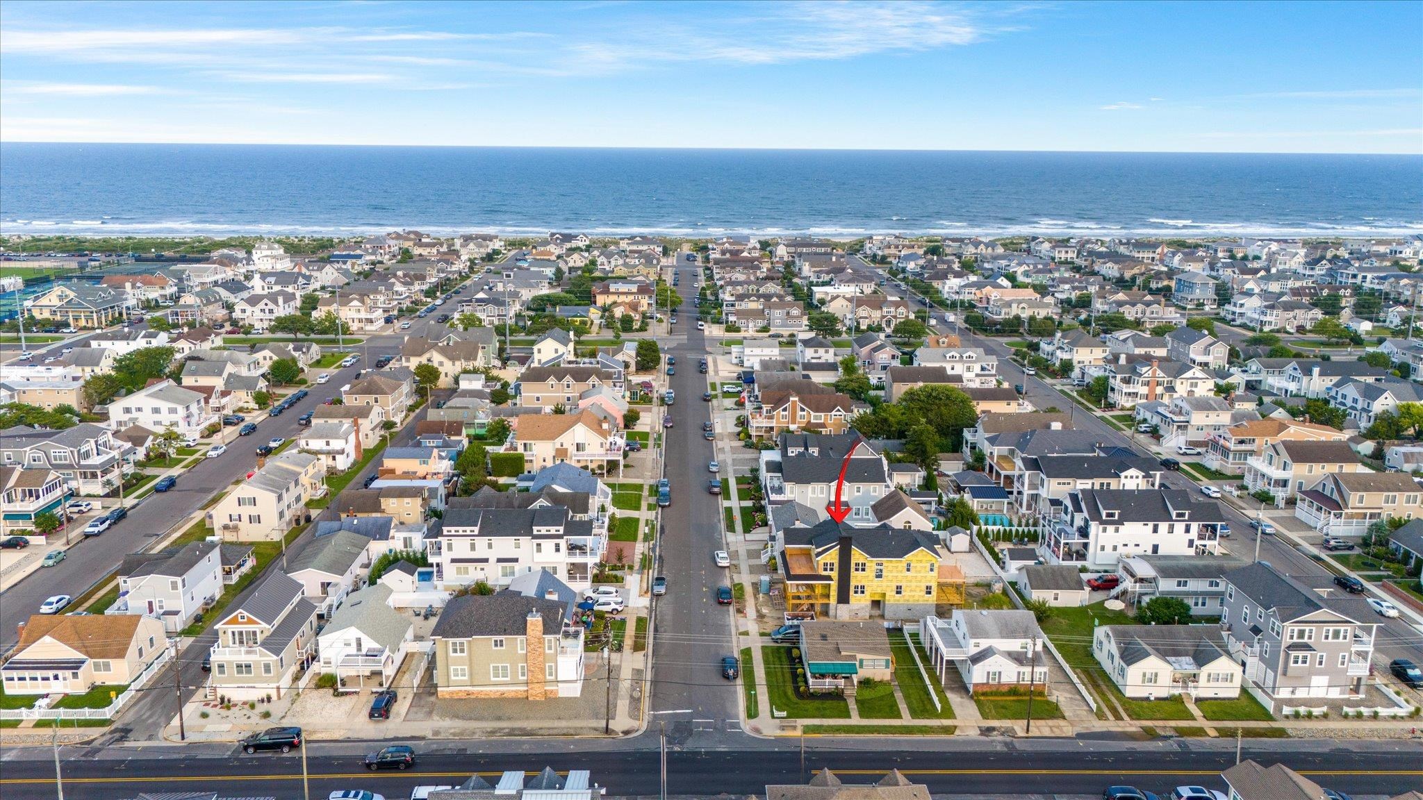
<svg viewBox="0 0 1423 800">
<path fill-rule="evenodd" d="M 1423 152 L 1423 3 L 24 3 L 0 140 Z"/>
</svg>

